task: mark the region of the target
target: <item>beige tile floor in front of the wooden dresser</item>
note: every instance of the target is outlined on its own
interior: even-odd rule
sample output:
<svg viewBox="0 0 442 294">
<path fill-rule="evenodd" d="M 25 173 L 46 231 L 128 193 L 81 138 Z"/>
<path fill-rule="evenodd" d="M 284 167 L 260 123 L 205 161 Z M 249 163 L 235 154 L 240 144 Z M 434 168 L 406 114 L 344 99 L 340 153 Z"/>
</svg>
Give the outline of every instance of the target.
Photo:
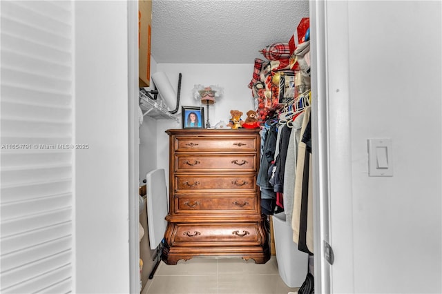
<svg viewBox="0 0 442 294">
<path fill-rule="evenodd" d="M 240 258 L 193 258 L 175 266 L 161 262 L 142 294 L 287 294 L 276 257 L 266 264 Z"/>
</svg>

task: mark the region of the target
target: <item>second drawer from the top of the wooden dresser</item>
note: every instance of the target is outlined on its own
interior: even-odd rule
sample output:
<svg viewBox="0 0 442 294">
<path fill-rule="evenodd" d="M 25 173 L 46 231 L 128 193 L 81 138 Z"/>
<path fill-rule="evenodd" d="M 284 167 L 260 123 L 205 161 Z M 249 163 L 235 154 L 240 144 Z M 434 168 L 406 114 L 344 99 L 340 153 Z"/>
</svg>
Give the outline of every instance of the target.
<svg viewBox="0 0 442 294">
<path fill-rule="evenodd" d="M 219 173 L 231 170 L 256 172 L 258 170 L 256 154 L 175 155 L 175 172 L 177 173 L 192 171 Z"/>
</svg>

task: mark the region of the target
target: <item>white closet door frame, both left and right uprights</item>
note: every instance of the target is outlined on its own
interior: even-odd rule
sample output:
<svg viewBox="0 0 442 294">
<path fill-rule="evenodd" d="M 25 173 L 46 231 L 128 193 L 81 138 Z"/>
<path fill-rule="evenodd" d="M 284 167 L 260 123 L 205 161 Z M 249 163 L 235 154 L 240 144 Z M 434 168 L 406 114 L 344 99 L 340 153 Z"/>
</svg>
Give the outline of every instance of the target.
<svg viewBox="0 0 442 294">
<path fill-rule="evenodd" d="M 128 3 L 129 255 L 131 293 L 140 291 L 138 1 Z M 332 5 L 330 5 L 332 3 Z M 312 153 L 314 174 L 314 276 L 316 293 L 354 289 L 347 1 L 310 1 Z M 336 54 L 339 53 L 339 54 Z M 333 58 L 331 58 L 333 57 Z M 335 101 L 329 103 L 329 101 Z M 338 101 L 338 103 L 336 103 Z M 336 211 L 332 211 L 332 207 Z M 338 211 L 338 212 L 337 212 Z M 332 234 L 333 232 L 333 234 Z M 324 258 L 324 241 L 335 264 Z M 339 249 L 339 250 L 338 250 Z M 343 258 L 343 254 L 345 257 Z M 318 258 L 320 257 L 320 258 Z M 339 281 L 345 282 L 345 286 Z M 335 283 L 334 283 L 335 282 Z"/>
</svg>

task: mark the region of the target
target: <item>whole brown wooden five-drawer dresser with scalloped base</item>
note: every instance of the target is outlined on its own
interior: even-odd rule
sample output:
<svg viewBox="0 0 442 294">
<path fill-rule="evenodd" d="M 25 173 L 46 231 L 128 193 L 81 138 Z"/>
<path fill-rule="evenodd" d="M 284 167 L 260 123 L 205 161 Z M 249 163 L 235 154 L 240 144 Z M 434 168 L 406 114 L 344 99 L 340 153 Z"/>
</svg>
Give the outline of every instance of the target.
<svg viewBox="0 0 442 294">
<path fill-rule="evenodd" d="M 266 216 L 256 185 L 259 129 L 166 130 L 169 214 L 162 259 L 197 256 L 269 260 Z"/>
</svg>

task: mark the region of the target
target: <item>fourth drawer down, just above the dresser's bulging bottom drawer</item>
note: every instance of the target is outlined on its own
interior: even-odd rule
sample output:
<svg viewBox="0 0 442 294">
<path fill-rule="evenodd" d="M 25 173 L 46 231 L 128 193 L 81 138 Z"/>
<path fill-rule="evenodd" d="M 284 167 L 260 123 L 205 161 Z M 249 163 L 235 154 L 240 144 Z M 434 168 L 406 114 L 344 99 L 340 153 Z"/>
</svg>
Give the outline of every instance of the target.
<svg viewBox="0 0 442 294">
<path fill-rule="evenodd" d="M 256 197 L 245 195 L 238 197 L 204 196 L 189 197 L 175 195 L 175 213 L 195 213 L 200 215 L 238 215 L 238 213 L 257 213 Z"/>
</svg>

